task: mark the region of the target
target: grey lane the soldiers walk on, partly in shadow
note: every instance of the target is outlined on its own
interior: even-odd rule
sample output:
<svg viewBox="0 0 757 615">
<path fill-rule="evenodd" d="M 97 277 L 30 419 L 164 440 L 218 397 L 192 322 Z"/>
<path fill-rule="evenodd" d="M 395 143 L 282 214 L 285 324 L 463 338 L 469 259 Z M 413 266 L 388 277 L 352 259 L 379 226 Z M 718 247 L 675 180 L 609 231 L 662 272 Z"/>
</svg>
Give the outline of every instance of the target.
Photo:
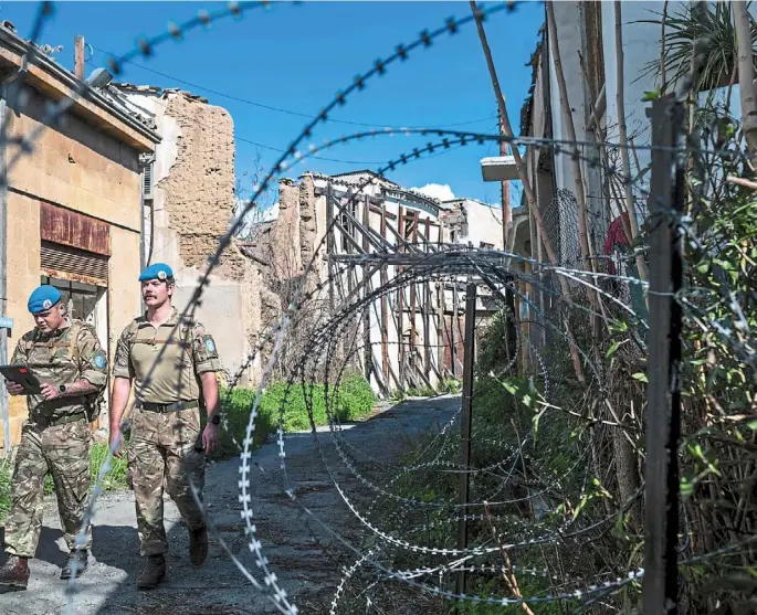
<svg viewBox="0 0 757 615">
<path fill-rule="evenodd" d="M 446 422 L 460 407 L 459 397 L 409 401 L 380 409 L 372 418 L 350 425 L 345 438 L 358 450 L 388 462 L 407 449 L 414 437 Z M 358 481 L 337 455 L 330 434 L 319 436 L 326 457 L 338 467 L 345 489 Z M 357 523 L 337 494 L 311 434 L 286 436 L 290 478 L 298 501 L 347 539 L 357 537 Z M 299 510 L 292 507 L 281 487 L 278 447 L 267 444 L 255 452 L 252 491 L 257 537 L 275 571 L 280 586 L 293 596 L 301 613 L 322 612 L 315 604 L 330 598 L 340 579 L 339 568 L 351 554 L 323 530 L 308 529 Z M 239 460 L 213 464 L 208 469 L 206 501 L 217 527 L 234 554 L 253 572 L 254 556 L 242 530 L 238 499 Z M 158 590 L 138 592 L 136 575 L 143 565 L 130 491 L 102 498 L 94 521 L 94 545 L 90 570 L 78 581 L 74 597 L 76 615 L 242 615 L 277 613 L 271 602 L 251 587 L 211 538 L 204 568 L 188 561 L 187 530 L 176 507 L 166 500 L 169 533 L 168 577 Z M 38 559 L 31 562 L 29 590 L 0 595 L 4 615 L 62 615 L 66 612 L 66 584 L 59 580 L 65 563 L 54 500 L 48 502 Z"/>
</svg>

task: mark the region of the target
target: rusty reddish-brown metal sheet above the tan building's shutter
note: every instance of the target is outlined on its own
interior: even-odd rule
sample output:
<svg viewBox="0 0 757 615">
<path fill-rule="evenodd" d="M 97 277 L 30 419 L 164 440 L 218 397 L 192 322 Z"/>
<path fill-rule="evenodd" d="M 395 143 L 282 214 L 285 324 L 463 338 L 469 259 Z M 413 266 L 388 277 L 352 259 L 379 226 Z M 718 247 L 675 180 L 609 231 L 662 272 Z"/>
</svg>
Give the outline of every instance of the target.
<svg viewBox="0 0 757 615">
<path fill-rule="evenodd" d="M 43 241 L 111 256 L 111 227 L 101 220 L 63 208 L 40 203 Z"/>
</svg>

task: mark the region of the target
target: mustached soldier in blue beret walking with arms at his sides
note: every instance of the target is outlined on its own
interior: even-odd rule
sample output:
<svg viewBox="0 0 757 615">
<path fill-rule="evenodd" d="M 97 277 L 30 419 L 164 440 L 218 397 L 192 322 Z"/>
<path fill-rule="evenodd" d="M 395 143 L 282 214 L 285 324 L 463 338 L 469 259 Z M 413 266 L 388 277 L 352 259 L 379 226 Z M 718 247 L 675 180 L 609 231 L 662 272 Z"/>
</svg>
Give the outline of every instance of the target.
<svg viewBox="0 0 757 615">
<path fill-rule="evenodd" d="M 133 320 L 118 340 L 113 367 L 111 443 L 120 447 L 120 422 L 134 382 L 127 459 L 140 553 L 147 558 L 137 587 L 148 590 L 166 575 L 164 483 L 189 529 L 192 564 L 201 565 L 208 554 L 206 522 L 192 495 L 189 476 L 201 495 L 204 454 L 210 454 L 218 442 L 215 372 L 220 362 L 213 338 L 202 325 L 182 319 L 171 306 L 175 282 L 170 267 L 151 265 L 139 280 L 147 312 Z M 201 405 L 208 414 L 202 434 Z"/>
</svg>

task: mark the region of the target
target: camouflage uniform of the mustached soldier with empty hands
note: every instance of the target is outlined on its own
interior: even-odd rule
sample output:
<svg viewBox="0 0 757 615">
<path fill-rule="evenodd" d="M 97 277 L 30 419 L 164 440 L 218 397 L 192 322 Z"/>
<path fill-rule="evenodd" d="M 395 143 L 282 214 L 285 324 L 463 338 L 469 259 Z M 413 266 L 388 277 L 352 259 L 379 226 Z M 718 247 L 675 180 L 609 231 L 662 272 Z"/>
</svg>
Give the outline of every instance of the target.
<svg viewBox="0 0 757 615">
<path fill-rule="evenodd" d="M 220 361 L 213 338 L 202 325 L 182 320 L 176 327 L 178 320 L 176 308 L 157 328 L 145 317 L 133 320 L 118 340 L 113 367 L 115 378 L 135 381 L 137 400 L 127 458 L 143 556 L 160 555 L 168 549 L 164 481 L 189 530 L 204 527 L 188 476 L 202 489 L 206 458 L 194 447 L 200 437 L 198 379 L 219 371 Z M 186 409 L 160 407 L 177 402 L 183 402 Z"/>
</svg>

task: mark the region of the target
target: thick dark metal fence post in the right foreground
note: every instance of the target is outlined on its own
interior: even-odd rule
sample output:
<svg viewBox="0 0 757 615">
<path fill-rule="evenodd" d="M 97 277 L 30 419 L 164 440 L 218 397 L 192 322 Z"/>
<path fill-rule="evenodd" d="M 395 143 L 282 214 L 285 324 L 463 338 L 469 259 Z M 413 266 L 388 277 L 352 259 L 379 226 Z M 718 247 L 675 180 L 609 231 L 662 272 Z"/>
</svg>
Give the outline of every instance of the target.
<svg viewBox="0 0 757 615">
<path fill-rule="evenodd" d="M 683 211 L 683 169 L 676 169 L 683 107 L 672 97 L 652 104 L 650 194 L 649 364 L 645 424 L 644 615 L 676 614 L 679 462 L 681 432 L 681 307 L 683 244 L 675 216 Z M 675 169 L 675 183 L 673 176 Z"/>
</svg>

